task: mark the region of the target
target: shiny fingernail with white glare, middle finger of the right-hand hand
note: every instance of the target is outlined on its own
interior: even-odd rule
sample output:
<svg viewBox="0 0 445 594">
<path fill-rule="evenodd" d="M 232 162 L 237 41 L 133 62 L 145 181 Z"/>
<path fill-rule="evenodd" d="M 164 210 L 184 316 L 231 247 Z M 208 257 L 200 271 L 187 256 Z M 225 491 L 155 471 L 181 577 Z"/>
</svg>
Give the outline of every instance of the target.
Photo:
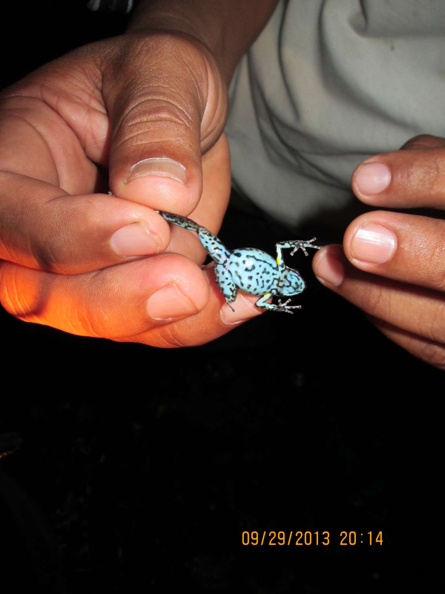
<svg viewBox="0 0 445 594">
<path fill-rule="evenodd" d="M 391 230 L 369 223 L 355 233 L 351 242 L 351 254 L 356 260 L 383 264 L 396 251 L 396 244 L 396 236 Z"/>
</svg>

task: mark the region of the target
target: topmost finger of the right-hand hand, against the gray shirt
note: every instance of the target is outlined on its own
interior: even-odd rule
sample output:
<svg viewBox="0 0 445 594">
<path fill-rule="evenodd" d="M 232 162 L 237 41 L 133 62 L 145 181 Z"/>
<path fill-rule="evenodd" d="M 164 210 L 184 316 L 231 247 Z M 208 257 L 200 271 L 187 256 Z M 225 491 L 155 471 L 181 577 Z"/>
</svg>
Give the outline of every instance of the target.
<svg viewBox="0 0 445 594">
<path fill-rule="evenodd" d="M 352 174 L 352 190 L 365 204 L 445 208 L 445 148 L 413 143 L 365 160 Z"/>
</svg>

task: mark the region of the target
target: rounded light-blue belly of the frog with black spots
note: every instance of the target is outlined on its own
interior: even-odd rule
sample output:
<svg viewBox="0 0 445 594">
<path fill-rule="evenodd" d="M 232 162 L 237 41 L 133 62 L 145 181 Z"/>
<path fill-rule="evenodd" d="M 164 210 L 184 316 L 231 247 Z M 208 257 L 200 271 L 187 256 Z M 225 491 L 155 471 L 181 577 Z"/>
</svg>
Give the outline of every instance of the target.
<svg viewBox="0 0 445 594">
<path fill-rule="evenodd" d="M 239 249 L 226 265 L 236 286 L 250 295 L 264 295 L 272 290 L 278 277 L 278 264 L 260 249 Z"/>
</svg>

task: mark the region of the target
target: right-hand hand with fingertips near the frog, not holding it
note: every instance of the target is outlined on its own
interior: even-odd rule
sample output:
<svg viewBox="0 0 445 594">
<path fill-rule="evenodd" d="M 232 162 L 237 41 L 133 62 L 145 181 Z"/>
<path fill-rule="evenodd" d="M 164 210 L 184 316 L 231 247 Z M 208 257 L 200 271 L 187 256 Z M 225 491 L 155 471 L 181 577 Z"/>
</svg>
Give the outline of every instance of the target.
<svg viewBox="0 0 445 594">
<path fill-rule="evenodd" d="M 445 208 L 445 139 L 422 135 L 367 159 L 354 194 L 388 208 Z M 389 339 L 445 369 L 445 221 L 373 211 L 348 226 L 343 247 L 316 254 L 323 285 L 368 314 Z"/>
</svg>

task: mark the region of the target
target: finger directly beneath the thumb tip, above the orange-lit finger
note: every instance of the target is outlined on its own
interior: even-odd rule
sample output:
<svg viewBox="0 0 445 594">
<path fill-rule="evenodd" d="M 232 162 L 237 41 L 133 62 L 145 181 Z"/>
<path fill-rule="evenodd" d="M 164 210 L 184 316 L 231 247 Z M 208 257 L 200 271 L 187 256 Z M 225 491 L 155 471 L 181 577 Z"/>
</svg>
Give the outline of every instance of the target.
<svg viewBox="0 0 445 594">
<path fill-rule="evenodd" d="M 0 173 L 0 258 L 30 268 L 79 274 L 169 244 L 169 225 L 151 208 L 104 194 Z"/>
</svg>

